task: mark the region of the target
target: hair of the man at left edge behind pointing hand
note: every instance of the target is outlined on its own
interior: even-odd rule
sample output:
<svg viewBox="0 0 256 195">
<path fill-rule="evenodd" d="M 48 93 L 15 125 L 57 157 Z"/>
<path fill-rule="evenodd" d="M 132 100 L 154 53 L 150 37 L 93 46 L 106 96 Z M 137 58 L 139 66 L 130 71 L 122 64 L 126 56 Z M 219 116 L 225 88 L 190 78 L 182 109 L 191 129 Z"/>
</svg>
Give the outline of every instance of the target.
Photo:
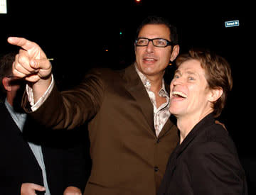
<svg viewBox="0 0 256 195">
<path fill-rule="evenodd" d="M 14 63 L 16 52 L 10 52 L 8 54 L 2 55 L 0 58 L 0 82 L 1 90 L 5 91 L 2 84 L 4 77 L 11 77 L 12 74 L 12 64 Z"/>
</svg>

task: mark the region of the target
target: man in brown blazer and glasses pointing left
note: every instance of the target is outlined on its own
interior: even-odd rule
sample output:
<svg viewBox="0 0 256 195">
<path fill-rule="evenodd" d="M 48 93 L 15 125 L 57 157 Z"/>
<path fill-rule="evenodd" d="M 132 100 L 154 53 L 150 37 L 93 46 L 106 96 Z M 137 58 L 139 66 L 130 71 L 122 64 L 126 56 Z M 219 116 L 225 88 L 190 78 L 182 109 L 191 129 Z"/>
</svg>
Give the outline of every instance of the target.
<svg viewBox="0 0 256 195">
<path fill-rule="evenodd" d="M 147 18 L 138 29 L 133 65 L 121 71 L 95 69 L 78 87 L 63 92 L 36 43 L 8 41 L 22 48 L 13 72 L 30 82 L 23 107 L 33 118 L 55 129 L 89 121 L 92 172 L 85 194 L 156 194 L 178 142 L 163 79 L 179 52 L 176 28 L 163 18 Z"/>
</svg>

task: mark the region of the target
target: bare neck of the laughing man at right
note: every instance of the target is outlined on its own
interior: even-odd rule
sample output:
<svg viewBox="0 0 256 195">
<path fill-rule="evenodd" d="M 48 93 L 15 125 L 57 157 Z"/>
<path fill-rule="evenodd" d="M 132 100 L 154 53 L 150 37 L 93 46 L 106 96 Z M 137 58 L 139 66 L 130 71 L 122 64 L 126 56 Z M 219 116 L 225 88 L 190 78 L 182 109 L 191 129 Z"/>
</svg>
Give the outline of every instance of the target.
<svg viewBox="0 0 256 195">
<path fill-rule="evenodd" d="M 194 126 L 199 123 L 203 118 L 205 118 L 209 113 L 212 113 L 213 110 L 209 109 L 201 114 L 191 114 L 187 116 L 176 116 L 177 118 L 177 127 L 180 130 L 180 144 L 186 138 L 188 133 L 191 132 Z"/>
</svg>

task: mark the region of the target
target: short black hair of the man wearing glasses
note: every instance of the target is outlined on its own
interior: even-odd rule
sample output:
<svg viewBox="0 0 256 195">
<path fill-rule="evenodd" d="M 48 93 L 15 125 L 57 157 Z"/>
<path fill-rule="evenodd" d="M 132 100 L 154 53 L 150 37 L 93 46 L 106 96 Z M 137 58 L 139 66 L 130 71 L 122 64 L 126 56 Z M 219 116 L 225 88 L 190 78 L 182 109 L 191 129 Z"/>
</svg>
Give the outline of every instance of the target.
<svg viewBox="0 0 256 195">
<path fill-rule="evenodd" d="M 176 26 L 171 25 L 166 18 L 162 18 L 159 16 L 148 16 L 147 18 L 145 18 L 139 28 L 137 28 L 136 38 L 138 38 L 140 30 L 142 30 L 142 28 L 148 24 L 164 24 L 165 26 L 167 26 L 170 30 L 171 42 L 174 43 L 174 45 L 178 45 L 178 33 Z"/>
</svg>

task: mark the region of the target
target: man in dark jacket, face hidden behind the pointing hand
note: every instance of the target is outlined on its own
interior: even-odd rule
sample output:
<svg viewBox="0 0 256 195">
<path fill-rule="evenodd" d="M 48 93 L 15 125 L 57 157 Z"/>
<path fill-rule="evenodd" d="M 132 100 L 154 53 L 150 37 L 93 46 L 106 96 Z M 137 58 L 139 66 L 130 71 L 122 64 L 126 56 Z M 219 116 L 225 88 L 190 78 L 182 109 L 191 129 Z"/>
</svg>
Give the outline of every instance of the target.
<svg viewBox="0 0 256 195">
<path fill-rule="evenodd" d="M 23 112 L 20 91 L 25 83 L 12 76 L 14 58 L 10 53 L 0 60 L 6 94 L 0 104 L 0 194 L 82 194 L 86 182 L 82 147 L 63 147 L 59 132 L 45 130 Z"/>
</svg>

